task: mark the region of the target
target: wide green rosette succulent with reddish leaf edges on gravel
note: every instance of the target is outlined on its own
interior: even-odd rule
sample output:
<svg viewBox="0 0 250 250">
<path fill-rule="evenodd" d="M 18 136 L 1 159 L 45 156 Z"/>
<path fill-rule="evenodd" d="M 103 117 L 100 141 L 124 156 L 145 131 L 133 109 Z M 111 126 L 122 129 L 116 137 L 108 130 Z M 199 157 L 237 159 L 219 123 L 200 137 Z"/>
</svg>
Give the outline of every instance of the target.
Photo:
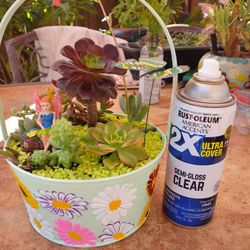
<svg viewBox="0 0 250 250">
<path fill-rule="evenodd" d="M 144 133 L 131 123 L 110 121 L 98 123 L 85 136 L 86 151 L 96 156 L 104 156 L 103 164 L 114 168 L 121 162 L 135 166 L 148 155 L 143 147 Z"/>
</svg>

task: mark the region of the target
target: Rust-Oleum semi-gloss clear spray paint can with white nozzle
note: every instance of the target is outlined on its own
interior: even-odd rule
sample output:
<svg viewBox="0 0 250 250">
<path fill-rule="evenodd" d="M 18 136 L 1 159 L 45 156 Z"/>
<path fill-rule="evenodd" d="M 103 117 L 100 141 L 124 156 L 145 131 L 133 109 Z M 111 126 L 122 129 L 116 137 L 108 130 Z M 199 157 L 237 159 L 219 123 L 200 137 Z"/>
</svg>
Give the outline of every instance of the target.
<svg viewBox="0 0 250 250">
<path fill-rule="evenodd" d="M 163 209 L 175 224 L 200 227 L 213 216 L 236 112 L 219 63 L 206 59 L 176 93 Z"/>
</svg>

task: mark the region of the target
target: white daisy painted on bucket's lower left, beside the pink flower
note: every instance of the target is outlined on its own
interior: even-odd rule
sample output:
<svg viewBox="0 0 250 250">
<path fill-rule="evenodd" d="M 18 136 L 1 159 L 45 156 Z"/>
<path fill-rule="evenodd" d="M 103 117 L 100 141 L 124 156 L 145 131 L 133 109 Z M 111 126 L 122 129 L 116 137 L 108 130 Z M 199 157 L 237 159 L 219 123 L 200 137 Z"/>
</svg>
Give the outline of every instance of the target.
<svg viewBox="0 0 250 250">
<path fill-rule="evenodd" d="M 30 221 L 35 229 L 44 237 L 54 238 L 54 232 L 51 228 L 49 222 L 47 222 L 41 214 L 36 213 L 36 210 L 31 208 L 29 205 L 26 205 Z"/>
</svg>

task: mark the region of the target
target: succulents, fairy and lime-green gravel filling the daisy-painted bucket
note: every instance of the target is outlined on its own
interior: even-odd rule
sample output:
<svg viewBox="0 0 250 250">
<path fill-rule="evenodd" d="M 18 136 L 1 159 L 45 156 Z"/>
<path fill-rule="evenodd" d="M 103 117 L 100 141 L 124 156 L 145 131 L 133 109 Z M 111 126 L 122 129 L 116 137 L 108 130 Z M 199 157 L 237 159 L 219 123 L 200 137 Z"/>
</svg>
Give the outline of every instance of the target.
<svg viewBox="0 0 250 250">
<path fill-rule="evenodd" d="M 154 159 L 163 142 L 160 133 L 143 121 L 149 108 L 141 95 L 120 97 L 125 115 L 109 110 L 117 97 L 111 75 L 126 73 L 116 66 L 116 47 L 100 47 L 83 38 L 61 53 L 68 60 L 53 65 L 62 75 L 53 81 L 56 89 L 35 93 L 34 110 L 13 110 L 19 129 L 0 153 L 26 171 L 63 179 L 119 175 Z"/>
</svg>

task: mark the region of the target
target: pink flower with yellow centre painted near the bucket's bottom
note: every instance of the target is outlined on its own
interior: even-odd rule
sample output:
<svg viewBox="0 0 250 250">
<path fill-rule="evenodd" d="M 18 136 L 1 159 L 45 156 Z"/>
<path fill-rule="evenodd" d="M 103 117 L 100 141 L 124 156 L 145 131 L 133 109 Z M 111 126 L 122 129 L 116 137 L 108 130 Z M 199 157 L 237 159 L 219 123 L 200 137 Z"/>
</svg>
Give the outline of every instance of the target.
<svg viewBox="0 0 250 250">
<path fill-rule="evenodd" d="M 58 233 L 59 238 L 68 245 L 96 245 L 96 236 L 86 227 L 80 224 L 73 224 L 70 220 L 57 219 L 57 226 L 54 230 Z"/>
</svg>

